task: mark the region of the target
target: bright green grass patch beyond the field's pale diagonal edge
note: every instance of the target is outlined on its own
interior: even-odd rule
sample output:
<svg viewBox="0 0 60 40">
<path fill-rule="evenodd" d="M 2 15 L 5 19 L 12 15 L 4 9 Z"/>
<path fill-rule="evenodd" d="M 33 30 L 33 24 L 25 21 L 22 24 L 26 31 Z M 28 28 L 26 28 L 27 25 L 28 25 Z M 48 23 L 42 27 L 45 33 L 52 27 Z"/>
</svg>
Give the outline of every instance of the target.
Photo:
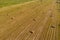
<svg viewBox="0 0 60 40">
<path fill-rule="evenodd" d="M 32 0 L 0 0 L 0 7 L 24 3 L 24 2 L 28 2 L 28 1 L 32 1 Z"/>
</svg>

